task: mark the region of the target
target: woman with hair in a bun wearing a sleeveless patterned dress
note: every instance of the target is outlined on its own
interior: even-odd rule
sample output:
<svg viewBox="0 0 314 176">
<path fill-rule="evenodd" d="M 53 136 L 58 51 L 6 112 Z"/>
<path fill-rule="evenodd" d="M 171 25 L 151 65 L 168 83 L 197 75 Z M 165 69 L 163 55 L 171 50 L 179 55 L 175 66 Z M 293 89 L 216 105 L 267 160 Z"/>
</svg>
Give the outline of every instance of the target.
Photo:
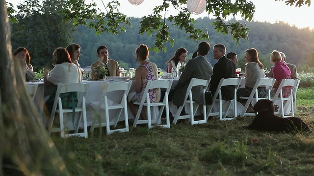
<svg viewBox="0 0 314 176">
<path fill-rule="evenodd" d="M 140 66 L 138 66 L 135 71 L 136 94 L 132 97 L 131 101 L 129 102 L 130 110 L 134 116 L 136 116 L 139 106 L 133 104 L 133 102 L 141 102 L 147 82 L 149 80 L 154 81 L 158 79 L 157 66 L 156 64 L 150 62 L 148 58 L 149 50 L 147 45 L 140 44 L 136 49 L 135 53 L 136 61 L 140 64 Z M 151 103 L 159 102 L 161 95 L 160 88 L 151 89 L 149 94 Z M 144 109 L 141 111 L 140 119 L 141 120 L 147 119 Z"/>
</svg>

